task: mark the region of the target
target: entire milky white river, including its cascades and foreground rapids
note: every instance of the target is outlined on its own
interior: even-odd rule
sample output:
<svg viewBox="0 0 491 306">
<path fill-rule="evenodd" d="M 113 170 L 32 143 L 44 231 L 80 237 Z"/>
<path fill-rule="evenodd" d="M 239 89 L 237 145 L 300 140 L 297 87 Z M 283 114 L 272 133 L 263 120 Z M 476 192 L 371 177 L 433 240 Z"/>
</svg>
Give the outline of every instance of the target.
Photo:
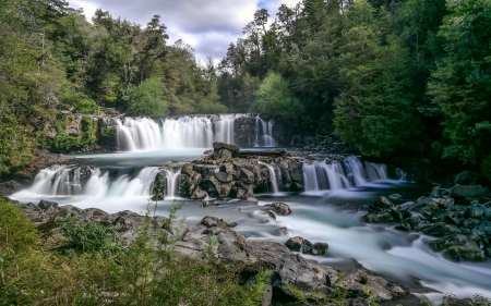
<svg viewBox="0 0 491 306">
<path fill-rule="evenodd" d="M 196 122 L 199 120 L 194 120 Z M 176 122 L 170 123 L 175 124 L 172 131 L 179 130 Z M 151 122 L 143 124 L 152 125 Z M 224 123 L 218 130 L 219 138 L 233 140 L 230 138 L 232 131 L 227 124 Z M 148 131 L 139 133 L 153 133 L 157 138 L 163 133 L 153 127 Z M 177 178 L 176 169 L 185 161 L 199 159 L 211 147 L 201 147 L 197 146 L 201 143 L 196 145 L 189 143 L 189 139 L 181 139 L 188 142 L 188 147 L 176 148 L 160 143 L 159 148 L 149 148 L 148 142 L 140 142 L 140 136 L 134 136 L 137 134 L 132 136 L 131 131 L 123 132 L 128 137 L 133 137 L 132 144 L 140 143 L 142 147 L 130 146 L 130 151 L 115 154 L 75 155 L 73 164 L 43 170 L 29 188 L 14 194 L 12 198 L 35 204 L 40 199 L 48 199 L 80 208 L 96 207 L 110 213 L 132 210 L 160 216 L 166 216 L 172 204 L 184 203 L 179 215 L 185 218 L 187 224 L 195 224 L 204 216 L 215 216 L 237 222 L 235 230 L 253 240 L 285 243 L 289 237 L 298 235 L 311 242 L 326 242 L 330 244 L 326 255 L 306 257 L 335 267 L 342 261 L 356 260 L 364 268 L 388 276 L 409 287 L 414 287 L 417 282 L 440 291 L 420 296 L 432 304 L 441 302 L 445 293 L 454 293 L 458 297 L 471 297 L 479 293 L 491 297 L 489 260 L 483 264 L 451 262 L 429 248 L 428 243 L 434 238 L 421 233 L 398 232 L 391 225 L 367 224 L 361 221 L 363 212 L 356 210 L 380 195 L 397 193 L 408 200 L 429 195 L 430 185 L 387 180 L 385 166 L 363 166 L 356 158 L 346 158 L 344 168 L 349 170 L 348 174 L 340 172 L 339 163 L 306 163 L 303 170 L 307 192 L 278 192 L 276 182 L 270 182 L 271 193 L 256 195 L 259 205 L 231 200 L 220 203 L 218 207 L 201 207 L 199 200 L 175 197 L 175 191 L 166 191 L 166 199 L 155 203 L 149 200 L 149 188 L 159 169 L 166 169 L 173 175 L 170 176 Z M 216 135 L 212 135 L 211 139 L 216 139 Z M 83 188 L 79 184 L 79 169 L 82 166 L 91 167 L 91 178 Z M 276 181 L 275 164 L 263 166 L 267 167 Z M 364 169 L 364 173 L 359 173 L 360 169 Z M 326 189 L 326 182 L 330 189 Z M 168 182 L 175 188 L 176 182 L 172 184 Z M 277 216 L 276 220 L 270 218 L 264 206 L 273 201 L 288 204 L 294 213 Z"/>
</svg>

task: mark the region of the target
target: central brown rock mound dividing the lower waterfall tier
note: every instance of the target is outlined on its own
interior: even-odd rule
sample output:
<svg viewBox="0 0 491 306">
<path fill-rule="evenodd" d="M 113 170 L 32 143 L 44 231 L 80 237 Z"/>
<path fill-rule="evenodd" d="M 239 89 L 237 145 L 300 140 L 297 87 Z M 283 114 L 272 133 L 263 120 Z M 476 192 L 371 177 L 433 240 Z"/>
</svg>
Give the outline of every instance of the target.
<svg viewBox="0 0 491 306">
<path fill-rule="evenodd" d="M 206 196 L 247 199 L 256 192 L 271 191 L 271 173 L 263 163 L 275 164 L 279 173 L 277 184 L 282 189 L 300 191 L 303 186 L 301 162 L 286 156 L 285 151 L 277 151 L 276 157 L 262 156 L 262 151 L 256 151 L 248 158 L 241 158 L 241 151 L 236 145 L 215 143 L 213 146 L 212 155 L 182 167 L 181 196 L 194 199 Z"/>
</svg>

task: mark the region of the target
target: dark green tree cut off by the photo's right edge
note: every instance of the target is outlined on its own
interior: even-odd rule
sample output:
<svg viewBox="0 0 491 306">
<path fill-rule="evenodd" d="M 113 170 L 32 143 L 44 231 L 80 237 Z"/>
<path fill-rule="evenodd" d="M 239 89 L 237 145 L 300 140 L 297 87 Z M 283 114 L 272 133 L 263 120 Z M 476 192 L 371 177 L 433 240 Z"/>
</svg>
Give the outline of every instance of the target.
<svg viewBox="0 0 491 306">
<path fill-rule="evenodd" d="M 438 36 L 444 53 L 429 94 L 443 112 L 443 157 L 480 166 L 491 179 L 491 1 L 447 2 Z"/>
</svg>

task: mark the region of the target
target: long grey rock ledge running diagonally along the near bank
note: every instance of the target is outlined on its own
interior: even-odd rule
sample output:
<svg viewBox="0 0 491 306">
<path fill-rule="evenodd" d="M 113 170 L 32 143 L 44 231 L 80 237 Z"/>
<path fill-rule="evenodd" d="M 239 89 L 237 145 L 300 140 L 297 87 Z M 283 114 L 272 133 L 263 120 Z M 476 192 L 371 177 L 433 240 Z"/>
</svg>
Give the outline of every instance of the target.
<svg viewBox="0 0 491 306">
<path fill-rule="evenodd" d="M 157 235 L 165 231 L 164 224 L 168 222 L 165 217 L 146 217 L 128 210 L 107 213 L 97 208 L 80 209 L 71 205 L 61 207 L 48 205 L 45 209 L 33 204 L 16 205 L 39 230 L 48 233 L 48 238 L 50 234 L 60 234 L 56 231 L 59 222 L 55 222 L 55 219 L 64 220 L 69 217 L 112 225 L 123 242 L 134 240 L 139 228 L 147 221 L 149 221 L 148 240 L 157 242 Z M 167 234 L 176 241 L 173 246 L 177 256 L 205 258 L 212 255 L 221 260 L 241 262 L 244 267 L 241 279 L 244 282 L 264 269 L 271 270 L 271 283 L 266 287 L 270 294 L 265 297 L 267 303 L 275 298 L 295 301 L 292 289 L 312 298 L 315 298 L 316 293 L 328 295 L 339 283 L 336 283 L 339 272 L 334 268 L 309 261 L 279 243 L 249 241 L 231 230 L 233 225 L 227 220 L 206 216 L 191 228 L 172 222 L 171 231 Z M 379 302 L 396 299 L 409 293 L 403 286 L 364 270 L 347 274 L 340 285 L 355 295 L 358 293 L 361 295 L 364 286 L 368 286 Z"/>
</svg>

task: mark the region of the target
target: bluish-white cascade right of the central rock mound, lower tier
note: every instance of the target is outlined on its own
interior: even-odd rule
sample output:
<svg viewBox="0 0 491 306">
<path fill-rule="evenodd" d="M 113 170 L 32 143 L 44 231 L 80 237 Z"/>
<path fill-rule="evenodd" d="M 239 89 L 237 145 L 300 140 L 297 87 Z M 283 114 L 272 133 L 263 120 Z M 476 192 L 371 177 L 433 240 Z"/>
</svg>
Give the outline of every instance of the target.
<svg viewBox="0 0 491 306">
<path fill-rule="evenodd" d="M 344 164 L 344 167 L 343 167 Z M 387 167 L 381 163 L 361 161 L 354 156 L 347 157 L 344 163 L 332 161 L 314 161 L 304 163 L 303 185 L 307 192 L 338 191 L 366 184 L 367 181 L 386 180 Z"/>
</svg>

